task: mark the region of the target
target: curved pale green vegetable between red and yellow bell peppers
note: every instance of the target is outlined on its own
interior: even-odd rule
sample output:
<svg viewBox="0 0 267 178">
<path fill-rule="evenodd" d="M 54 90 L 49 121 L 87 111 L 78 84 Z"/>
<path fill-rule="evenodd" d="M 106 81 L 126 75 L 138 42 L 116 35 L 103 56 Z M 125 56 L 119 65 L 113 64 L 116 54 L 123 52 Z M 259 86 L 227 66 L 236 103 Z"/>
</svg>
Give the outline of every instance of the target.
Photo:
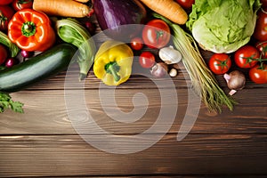
<svg viewBox="0 0 267 178">
<path fill-rule="evenodd" d="M 87 77 L 94 61 L 96 46 L 91 35 L 77 20 L 68 18 L 56 20 L 58 35 L 66 43 L 74 44 L 79 49 L 77 62 L 80 68 L 79 80 Z"/>
</svg>

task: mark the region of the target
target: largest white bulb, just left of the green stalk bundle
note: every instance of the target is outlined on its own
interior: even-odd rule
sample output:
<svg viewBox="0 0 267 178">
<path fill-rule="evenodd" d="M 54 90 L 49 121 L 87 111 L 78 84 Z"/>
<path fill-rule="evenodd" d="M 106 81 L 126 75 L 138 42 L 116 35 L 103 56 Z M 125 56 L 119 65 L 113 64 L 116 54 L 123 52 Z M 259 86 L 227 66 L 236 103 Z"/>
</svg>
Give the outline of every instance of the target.
<svg viewBox="0 0 267 178">
<path fill-rule="evenodd" d="M 172 45 L 161 48 L 158 56 L 166 64 L 174 64 L 182 60 L 182 54 L 178 50 L 175 50 Z"/>
</svg>

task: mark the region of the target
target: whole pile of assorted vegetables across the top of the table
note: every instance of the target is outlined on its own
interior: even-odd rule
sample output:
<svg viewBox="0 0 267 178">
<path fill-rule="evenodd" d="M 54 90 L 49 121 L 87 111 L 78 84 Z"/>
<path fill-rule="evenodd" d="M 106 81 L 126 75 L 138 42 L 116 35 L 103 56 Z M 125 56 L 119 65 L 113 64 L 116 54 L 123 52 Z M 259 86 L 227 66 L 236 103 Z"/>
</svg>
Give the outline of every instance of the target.
<svg viewBox="0 0 267 178">
<path fill-rule="evenodd" d="M 177 77 L 182 62 L 209 110 L 233 110 L 231 95 L 247 81 L 267 84 L 266 7 L 260 0 L 6 0 L 0 4 L 0 112 L 23 112 L 10 93 L 74 62 L 77 80 L 93 69 L 105 85 L 126 85 L 135 55 L 157 78 Z M 99 48 L 93 20 L 107 36 Z M 143 26 L 125 28 L 131 24 Z M 200 48 L 213 53 L 208 61 Z M 225 78 L 229 93 L 217 77 Z"/>
</svg>

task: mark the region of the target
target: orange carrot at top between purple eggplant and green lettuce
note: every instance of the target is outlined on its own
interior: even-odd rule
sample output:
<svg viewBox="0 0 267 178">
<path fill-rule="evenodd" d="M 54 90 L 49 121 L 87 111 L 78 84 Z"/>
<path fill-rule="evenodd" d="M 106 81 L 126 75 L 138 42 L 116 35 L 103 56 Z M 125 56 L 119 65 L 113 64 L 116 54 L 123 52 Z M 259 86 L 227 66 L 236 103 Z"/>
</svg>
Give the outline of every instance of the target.
<svg viewBox="0 0 267 178">
<path fill-rule="evenodd" d="M 140 0 L 148 6 L 152 11 L 158 12 L 160 15 L 172 20 L 180 25 L 185 24 L 188 20 L 187 13 L 182 9 L 181 5 L 174 0 Z"/>
</svg>

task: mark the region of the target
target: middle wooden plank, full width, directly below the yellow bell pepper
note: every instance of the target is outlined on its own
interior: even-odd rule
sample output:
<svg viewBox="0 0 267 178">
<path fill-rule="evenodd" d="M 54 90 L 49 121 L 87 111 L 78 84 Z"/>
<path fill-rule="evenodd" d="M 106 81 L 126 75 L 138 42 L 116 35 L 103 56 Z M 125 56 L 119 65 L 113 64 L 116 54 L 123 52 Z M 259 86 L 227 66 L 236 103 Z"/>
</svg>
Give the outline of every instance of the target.
<svg viewBox="0 0 267 178">
<path fill-rule="evenodd" d="M 79 91 L 76 91 L 79 92 Z M 125 112 L 134 109 L 132 99 L 140 90 L 116 90 L 118 107 Z M 187 90 L 177 90 L 179 103 L 173 126 L 169 133 L 177 133 L 188 105 Z M 150 128 L 157 120 L 161 108 L 160 96 L 156 89 L 143 89 L 149 99 L 144 117 L 131 124 L 118 123 L 107 117 L 101 107 L 99 91 L 85 90 L 87 107 L 95 122 L 104 130 L 117 134 L 136 134 Z M 234 111 L 223 109 L 222 114 L 209 112 L 203 104 L 192 133 L 267 133 L 267 99 L 263 88 L 244 89 L 234 97 L 239 101 Z M 25 103 L 25 114 L 7 110 L 0 117 L 0 134 L 76 134 L 73 129 L 64 101 L 64 91 L 22 91 L 12 94 L 14 100 Z M 108 96 L 109 97 L 109 96 Z M 112 97 L 110 96 L 110 99 Z M 136 103 L 136 109 L 147 105 Z M 172 102 L 169 106 L 172 107 Z M 112 108 L 113 107 L 113 108 Z M 110 109 L 117 109 L 109 106 Z M 194 111 L 190 108 L 189 111 Z M 189 112 L 190 113 L 190 112 Z M 83 121 L 82 121 L 83 122 Z M 86 122 L 86 119 L 85 119 Z M 85 123 L 86 124 L 86 123 Z M 87 123 L 88 124 L 88 123 Z M 89 124 L 90 125 L 90 124 Z M 166 122 L 166 125 L 172 123 Z M 94 131 L 95 128 L 91 127 Z M 158 132 L 160 131 L 158 127 Z M 156 132 L 157 133 L 157 132 Z"/>
</svg>

